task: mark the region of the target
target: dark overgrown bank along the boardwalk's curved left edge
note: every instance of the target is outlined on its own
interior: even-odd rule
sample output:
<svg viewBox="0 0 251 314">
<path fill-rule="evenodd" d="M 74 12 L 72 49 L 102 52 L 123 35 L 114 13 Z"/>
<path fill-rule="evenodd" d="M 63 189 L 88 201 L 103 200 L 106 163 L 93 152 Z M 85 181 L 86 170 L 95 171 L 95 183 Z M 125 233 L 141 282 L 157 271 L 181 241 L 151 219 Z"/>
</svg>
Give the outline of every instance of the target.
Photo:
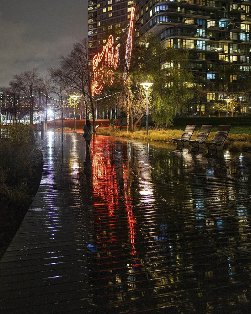
<svg viewBox="0 0 251 314">
<path fill-rule="evenodd" d="M 42 152 L 29 125 L 10 127 L 0 139 L 0 257 L 21 224 L 40 184 Z"/>
</svg>

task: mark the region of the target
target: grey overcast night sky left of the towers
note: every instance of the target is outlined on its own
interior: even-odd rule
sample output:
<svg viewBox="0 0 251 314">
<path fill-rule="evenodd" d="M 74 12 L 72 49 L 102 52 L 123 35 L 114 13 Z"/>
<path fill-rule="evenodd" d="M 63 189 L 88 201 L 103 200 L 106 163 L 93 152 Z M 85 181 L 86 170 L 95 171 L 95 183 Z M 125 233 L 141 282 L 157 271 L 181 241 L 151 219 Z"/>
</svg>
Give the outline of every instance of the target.
<svg viewBox="0 0 251 314">
<path fill-rule="evenodd" d="M 0 88 L 32 68 L 46 75 L 87 37 L 87 0 L 1 0 Z"/>
</svg>

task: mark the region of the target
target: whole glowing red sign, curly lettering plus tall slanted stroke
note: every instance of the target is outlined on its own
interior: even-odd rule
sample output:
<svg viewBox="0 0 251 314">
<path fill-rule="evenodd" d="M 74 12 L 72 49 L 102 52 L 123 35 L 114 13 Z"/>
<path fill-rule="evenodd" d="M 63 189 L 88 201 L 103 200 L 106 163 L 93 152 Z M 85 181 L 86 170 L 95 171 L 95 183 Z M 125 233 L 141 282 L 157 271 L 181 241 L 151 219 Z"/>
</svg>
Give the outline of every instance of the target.
<svg viewBox="0 0 251 314">
<path fill-rule="evenodd" d="M 125 50 L 125 68 L 123 78 L 126 80 L 127 71 L 130 68 L 131 50 L 132 50 L 132 32 L 134 23 L 135 8 L 131 8 L 131 20 L 129 25 L 128 37 Z M 119 47 L 114 47 L 113 36 L 110 35 L 102 53 L 93 57 L 93 80 L 92 80 L 92 96 L 99 95 L 107 84 L 111 86 L 113 83 L 113 71 L 119 66 Z"/>
</svg>

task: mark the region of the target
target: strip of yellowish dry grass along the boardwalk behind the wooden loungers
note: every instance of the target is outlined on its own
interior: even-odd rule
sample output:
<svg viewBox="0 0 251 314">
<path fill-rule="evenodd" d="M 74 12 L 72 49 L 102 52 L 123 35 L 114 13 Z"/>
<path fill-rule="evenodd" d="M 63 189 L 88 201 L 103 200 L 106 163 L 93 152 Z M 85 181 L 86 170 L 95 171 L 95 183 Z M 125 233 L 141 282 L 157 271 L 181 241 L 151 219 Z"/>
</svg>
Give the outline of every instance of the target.
<svg viewBox="0 0 251 314">
<path fill-rule="evenodd" d="M 192 123 L 191 123 L 192 124 Z M 206 123 L 204 123 L 206 124 Z M 184 129 L 183 129 L 184 130 Z M 99 134 L 108 136 L 118 136 L 124 138 L 131 138 L 142 141 L 158 141 L 158 142 L 170 142 L 172 143 L 172 138 L 180 138 L 183 130 L 177 129 L 150 129 L 149 135 L 146 134 L 145 129 L 138 130 L 134 133 L 126 133 L 125 130 L 120 131 L 119 129 L 99 129 Z M 195 139 L 199 131 L 195 131 L 191 139 Z M 214 137 L 215 132 L 211 132 L 208 136 L 208 141 L 211 141 Z M 245 151 L 245 147 L 251 147 L 251 135 L 249 134 L 233 134 L 229 133 L 225 142 L 224 149 L 228 149 L 232 152 Z"/>
</svg>

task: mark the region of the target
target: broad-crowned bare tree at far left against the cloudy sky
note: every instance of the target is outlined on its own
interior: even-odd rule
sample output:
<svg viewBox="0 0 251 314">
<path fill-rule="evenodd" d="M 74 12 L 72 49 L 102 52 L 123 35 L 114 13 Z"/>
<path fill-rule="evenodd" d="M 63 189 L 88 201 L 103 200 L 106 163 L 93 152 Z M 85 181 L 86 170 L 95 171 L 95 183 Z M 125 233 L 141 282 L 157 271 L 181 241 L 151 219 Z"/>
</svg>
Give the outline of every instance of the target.
<svg viewBox="0 0 251 314">
<path fill-rule="evenodd" d="M 33 124 L 33 112 L 39 95 L 38 91 L 41 86 L 41 78 L 37 73 L 37 69 L 33 68 L 30 71 L 14 75 L 10 86 L 23 95 L 23 102 L 29 108 L 30 124 Z"/>
</svg>

